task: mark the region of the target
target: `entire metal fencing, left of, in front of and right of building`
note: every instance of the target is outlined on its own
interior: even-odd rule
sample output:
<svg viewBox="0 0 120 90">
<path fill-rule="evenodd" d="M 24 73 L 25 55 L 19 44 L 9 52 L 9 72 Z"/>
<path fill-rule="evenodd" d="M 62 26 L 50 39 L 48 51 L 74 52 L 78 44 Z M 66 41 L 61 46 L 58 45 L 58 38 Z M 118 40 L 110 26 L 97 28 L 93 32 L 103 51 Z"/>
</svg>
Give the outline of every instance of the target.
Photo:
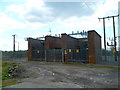
<svg viewBox="0 0 120 90">
<path fill-rule="evenodd" d="M 117 61 L 115 61 L 114 53 L 107 51 L 107 59 L 105 60 L 104 51 L 102 52 L 102 60 L 96 64 L 102 65 L 118 65 L 120 51 L 117 52 Z M 27 51 L 1 51 L 0 59 L 12 60 L 23 59 L 28 57 Z M 46 62 L 88 62 L 88 50 L 82 49 L 48 49 L 48 50 L 32 50 L 32 59 Z"/>
</svg>

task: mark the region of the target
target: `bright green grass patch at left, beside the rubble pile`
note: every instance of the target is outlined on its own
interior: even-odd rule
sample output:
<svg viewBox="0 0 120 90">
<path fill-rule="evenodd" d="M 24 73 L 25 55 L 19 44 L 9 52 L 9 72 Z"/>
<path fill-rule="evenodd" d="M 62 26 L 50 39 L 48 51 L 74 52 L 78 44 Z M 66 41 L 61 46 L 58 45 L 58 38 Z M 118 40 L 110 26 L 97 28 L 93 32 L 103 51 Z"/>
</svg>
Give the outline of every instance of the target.
<svg viewBox="0 0 120 90">
<path fill-rule="evenodd" d="M 5 77 L 5 75 L 8 75 L 9 67 L 13 65 L 19 66 L 19 64 L 14 63 L 14 62 L 2 62 L 2 65 L 1 65 L 2 66 L 2 75 L 1 75 L 2 77 L 0 77 L 0 79 L 2 79 L 2 87 L 20 83 L 19 81 L 14 80 L 12 77 Z"/>
</svg>

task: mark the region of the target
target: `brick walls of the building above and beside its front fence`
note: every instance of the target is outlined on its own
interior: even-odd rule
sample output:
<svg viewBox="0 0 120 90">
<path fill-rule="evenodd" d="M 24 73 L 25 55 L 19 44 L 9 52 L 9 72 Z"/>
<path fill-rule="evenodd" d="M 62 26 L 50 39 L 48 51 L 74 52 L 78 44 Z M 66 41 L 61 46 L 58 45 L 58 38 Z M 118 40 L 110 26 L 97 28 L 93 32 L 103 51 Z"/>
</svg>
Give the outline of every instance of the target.
<svg viewBox="0 0 120 90">
<path fill-rule="evenodd" d="M 37 55 L 37 58 L 41 57 L 40 55 L 42 52 L 39 55 L 33 55 L 34 50 L 78 48 L 88 49 L 87 58 L 89 63 L 94 64 L 101 60 L 101 36 L 94 30 L 88 31 L 88 38 L 80 39 L 71 37 L 67 34 L 61 34 L 61 38 L 46 36 L 45 41 L 28 38 L 28 60 L 34 60 L 34 55 Z M 44 53 L 45 52 L 43 52 L 43 54 Z"/>
</svg>

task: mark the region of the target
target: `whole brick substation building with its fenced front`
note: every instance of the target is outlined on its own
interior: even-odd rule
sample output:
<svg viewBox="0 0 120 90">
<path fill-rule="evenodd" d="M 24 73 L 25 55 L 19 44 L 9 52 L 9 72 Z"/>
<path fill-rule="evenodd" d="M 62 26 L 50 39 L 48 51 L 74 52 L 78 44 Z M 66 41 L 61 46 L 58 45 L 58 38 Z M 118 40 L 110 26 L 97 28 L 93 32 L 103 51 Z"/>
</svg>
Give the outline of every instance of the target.
<svg viewBox="0 0 120 90">
<path fill-rule="evenodd" d="M 88 31 L 86 38 L 74 38 L 63 33 L 61 37 L 45 36 L 45 40 L 27 38 L 27 41 L 28 60 L 50 61 L 50 58 L 55 60 L 59 57 L 62 62 L 91 64 L 102 60 L 101 36 L 95 30 Z"/>
</svg>

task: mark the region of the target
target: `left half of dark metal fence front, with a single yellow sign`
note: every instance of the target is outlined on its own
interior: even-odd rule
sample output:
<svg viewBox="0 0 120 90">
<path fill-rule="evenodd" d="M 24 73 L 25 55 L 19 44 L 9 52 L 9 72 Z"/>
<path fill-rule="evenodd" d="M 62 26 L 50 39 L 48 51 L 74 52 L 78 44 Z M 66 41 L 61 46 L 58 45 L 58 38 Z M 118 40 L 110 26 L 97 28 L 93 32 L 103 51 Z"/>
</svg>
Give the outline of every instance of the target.
<svg viewBox="0 0 120 90">
<path fill-rule="evenodd" d="M 32 50 L 32 59 L 47 62 L 62 62 L 62 49 Z"/>
</svg>

